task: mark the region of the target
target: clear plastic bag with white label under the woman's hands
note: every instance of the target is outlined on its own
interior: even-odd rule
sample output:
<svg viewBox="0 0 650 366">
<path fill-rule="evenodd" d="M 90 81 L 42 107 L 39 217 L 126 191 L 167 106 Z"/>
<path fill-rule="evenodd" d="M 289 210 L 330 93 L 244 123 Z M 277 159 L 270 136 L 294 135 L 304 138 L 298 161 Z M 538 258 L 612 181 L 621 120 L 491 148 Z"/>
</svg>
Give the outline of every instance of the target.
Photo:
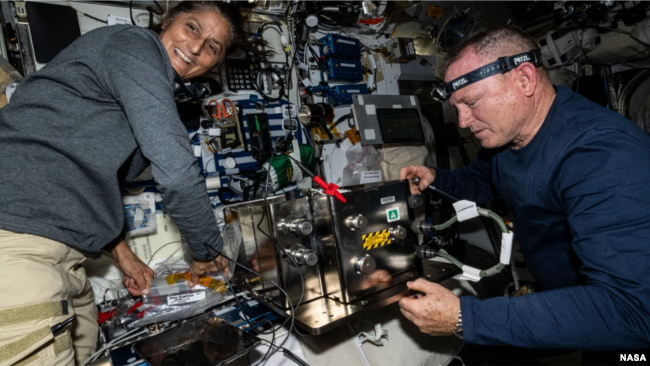
<svg viewBox="0 0 650 366">
<path fill-rule="evenodd" d="M 111 338 L 134 328 L 198 315 L 224 300 L 224 282 L 206 276 L 189 287 L 190 277 L 189 272 L 181 272 L 154 278 L 148 295 L 130 298 L 117 308 L 109 325 Z"/>
</svg>

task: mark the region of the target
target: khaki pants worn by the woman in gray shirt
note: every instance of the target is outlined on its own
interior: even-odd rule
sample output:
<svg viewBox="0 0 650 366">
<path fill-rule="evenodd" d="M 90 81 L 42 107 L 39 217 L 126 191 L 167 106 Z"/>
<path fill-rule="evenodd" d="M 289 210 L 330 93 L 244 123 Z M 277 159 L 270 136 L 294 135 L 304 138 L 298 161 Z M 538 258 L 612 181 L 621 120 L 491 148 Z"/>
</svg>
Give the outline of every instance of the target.
<svg viewBox="0 0 650 366">
<path fill-rule="evenodd" d="M 84 259 L 54 240 L 0 230 L 0 366 L 79 366 L 91 355 L 99 328 Z"/>
</svg>

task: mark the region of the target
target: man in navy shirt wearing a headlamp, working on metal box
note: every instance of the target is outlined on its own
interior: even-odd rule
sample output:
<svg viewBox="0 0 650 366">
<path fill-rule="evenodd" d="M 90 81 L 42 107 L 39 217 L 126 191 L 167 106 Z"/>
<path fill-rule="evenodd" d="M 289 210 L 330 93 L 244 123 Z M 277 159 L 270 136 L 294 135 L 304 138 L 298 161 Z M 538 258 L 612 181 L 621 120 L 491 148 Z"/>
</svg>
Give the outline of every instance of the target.
<svg viewBox="0 0 650 366">
<path fill-rule="evenodd" d="M 611 362 L 593 351 L 649 347 L 650 137 L 551 85 L 537 43 L 517 28 L 478 32 L 444 67 L 432 96 L 457 108 L 483 149 L 468 167 L 414 165 L 400 177 L 420 178 L 414 194 L 433 184 L 479 203 L 501 196 L 543 291 L 479 300 L 417 280 L 409 287 L 425 296 L 400 301 L 404 316 L 473 344 L 586 350 L 583 364 Z"/>
</svg>

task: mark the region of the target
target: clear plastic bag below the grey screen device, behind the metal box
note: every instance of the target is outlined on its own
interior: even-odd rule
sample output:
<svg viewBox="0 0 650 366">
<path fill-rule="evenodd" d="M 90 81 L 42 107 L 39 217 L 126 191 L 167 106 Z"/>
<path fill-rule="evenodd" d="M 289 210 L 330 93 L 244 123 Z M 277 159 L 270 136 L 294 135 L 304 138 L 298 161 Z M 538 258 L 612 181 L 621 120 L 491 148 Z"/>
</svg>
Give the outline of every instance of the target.
<svg viewBox="0 0 650 366">
<path fill-rule="evenodd" d="M 372 145 L 356 144 L 345 152 L 341 187 L 382 181 L 381 154 Z"/>
</svg>

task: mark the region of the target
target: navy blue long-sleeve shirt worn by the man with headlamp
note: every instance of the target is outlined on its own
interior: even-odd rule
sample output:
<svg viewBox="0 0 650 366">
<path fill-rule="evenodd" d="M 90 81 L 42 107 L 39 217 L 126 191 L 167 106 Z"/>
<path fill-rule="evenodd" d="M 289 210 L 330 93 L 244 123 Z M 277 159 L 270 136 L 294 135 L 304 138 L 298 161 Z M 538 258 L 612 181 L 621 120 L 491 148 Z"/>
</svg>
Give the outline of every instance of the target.
<svg viewBox="0 0 650 366">
<path fill-rule="evenodd" d="M 515 216 L 544 291 L 461 297 L 469 343 L 585 350 L 650 346 L 650 137 L 567 87 L 525 147 L 436 169 L 434 185 Z"/>
</svg>

